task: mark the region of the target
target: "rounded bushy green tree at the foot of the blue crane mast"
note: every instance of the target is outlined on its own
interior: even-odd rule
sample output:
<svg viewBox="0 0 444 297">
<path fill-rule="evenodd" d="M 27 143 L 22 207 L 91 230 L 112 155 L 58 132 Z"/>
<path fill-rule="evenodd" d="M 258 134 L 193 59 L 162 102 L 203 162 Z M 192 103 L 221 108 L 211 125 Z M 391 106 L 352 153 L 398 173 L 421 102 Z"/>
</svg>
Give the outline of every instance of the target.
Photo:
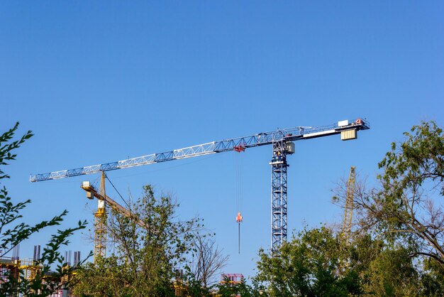
<svg viewBox="0 0 444 297">
<path fill-rule="evenodd" d="M 260 250 L 256 281 L 270 296 L 348 296 L 361 293 L 353 270 L 340 273 L 343 254 L 331 229 L 304 229 L 278 255 Z"/>
</svg>

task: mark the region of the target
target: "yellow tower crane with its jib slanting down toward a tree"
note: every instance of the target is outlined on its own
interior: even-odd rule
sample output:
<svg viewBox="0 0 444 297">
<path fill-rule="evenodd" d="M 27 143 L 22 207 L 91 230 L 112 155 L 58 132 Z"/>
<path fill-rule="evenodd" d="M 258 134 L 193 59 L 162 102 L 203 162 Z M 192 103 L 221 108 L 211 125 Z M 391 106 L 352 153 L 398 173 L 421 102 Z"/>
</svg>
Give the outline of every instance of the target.
<svg viewBox="0 0 444 297">
<path fill-rule="evenodd" d="M 106 257 L 106 205 L 109 205 L 116 212 L 126 217 L 132 218 L 137 225 L 146 228 L 145 222 L 135 217 L 130 210 L 127 210 L 118 202 L 109 198 L 105 193 L 105 173 L 102 171 L 100 180 L 100 189 L 97 192 L 89 181 L 84 181 L 80 187 L 87 192 L 88 199 L 97 198 L 97 212 L 94 214 L 94 261 L 98 257 Z"/>
</svg>

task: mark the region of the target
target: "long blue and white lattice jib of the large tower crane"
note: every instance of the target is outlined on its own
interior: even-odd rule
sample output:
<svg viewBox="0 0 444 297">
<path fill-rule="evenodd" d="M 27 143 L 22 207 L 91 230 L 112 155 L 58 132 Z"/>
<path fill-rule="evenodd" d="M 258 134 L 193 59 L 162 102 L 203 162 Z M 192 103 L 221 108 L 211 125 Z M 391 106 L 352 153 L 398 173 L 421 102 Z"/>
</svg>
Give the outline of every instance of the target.
<svg viewBox="0 0 444 297">
<path fill-rule="evenodd" d="M 341 123 L 346 124 L 341 124 Z M 79 175 L 99 173 L 101 171 L 113 171 L 117 169 L 130 168 L 135 166 L 150 165 L 165 161 L 179 160 L 182 158 L 193 158 L 196 156 L 206 156 L 211 153 L 221 153 L 224 151 L 233 151 L 235 148 L 252 148 L 255 146 L 265 146 L 273 144 L 276 141 L 298 141 L 302 139 L 312 139 L 322 136 L 340 134 L 346 130 L 366 130 L 370 129 L 370 124 L 363 119 L 350 121 L 340 121 L 338 124 L 328 126 L 296 126 L 288 129 L 277 129 L 269 132 L 261 132 L 252 136 L 238 137 L 235 139 L 226 139 L 222 141 L 212 141 L 197 146 L 179 148 L 174 151 L 163 153 L 152 153 L 146 156 L 128 158 L 122 161 L 86 166 L 82 168 L 67 169 L 63 171 L 54 171 L 30 175 L 30 182 L 43 180 L 54 180 L 58 178 L 69 178 Z"/>
</svg>

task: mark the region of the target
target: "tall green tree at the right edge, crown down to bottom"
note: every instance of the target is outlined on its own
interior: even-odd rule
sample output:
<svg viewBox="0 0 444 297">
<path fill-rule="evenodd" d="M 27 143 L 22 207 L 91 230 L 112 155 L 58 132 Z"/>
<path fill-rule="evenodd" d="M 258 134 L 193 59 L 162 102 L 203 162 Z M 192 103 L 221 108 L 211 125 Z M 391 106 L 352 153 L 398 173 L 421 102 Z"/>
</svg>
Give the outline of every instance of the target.
<svg viewBox="0 0 444 297">
<path fill-rule="evenodd" d="M 442 296 L 443 130 L 422 122 L 404 136 L 378 164 L 375 188 L 357 180 L 350 265 L 367 293 Z M 335 200 L 344 193 L 342 186 Z"/>
</svg>

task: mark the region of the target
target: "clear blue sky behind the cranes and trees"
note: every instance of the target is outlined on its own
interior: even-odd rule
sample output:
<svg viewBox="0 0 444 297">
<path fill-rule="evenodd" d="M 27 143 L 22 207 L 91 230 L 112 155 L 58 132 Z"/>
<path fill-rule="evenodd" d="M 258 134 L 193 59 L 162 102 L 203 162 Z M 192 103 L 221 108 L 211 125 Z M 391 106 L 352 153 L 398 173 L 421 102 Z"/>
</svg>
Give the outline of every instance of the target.
<svg viewBox="0 0 444 297">
<path fill-rule="evenodd" d="M 444 124 L 443 15 L 442 1 L 1 1 L 0 131 L 20 121 L 35 133 L 5 185 L 33 200 L 26 220 L 67 209 L 70 227 L 92 221 L 96 202 L 79 184 L 99 176 L 29 183 L 30 173 L 362 117 L 372 129 L 356 141 L 298 141 L 289 158 L 289 230 L 340 222 L 331 189 L 350 166 L 373 183 L 403 131 Z M 263 146 L 240 156 L 241 254 L 234 152 L 109 178 L 125 195 L 147 183 L 173 193 L 179 217 L 199 215 L 216 232 L 225 272 L 248 276 L 270 247 L 271 155 Z M 67 249 L 87 254 L 84 237 Z"/>
</svg>

